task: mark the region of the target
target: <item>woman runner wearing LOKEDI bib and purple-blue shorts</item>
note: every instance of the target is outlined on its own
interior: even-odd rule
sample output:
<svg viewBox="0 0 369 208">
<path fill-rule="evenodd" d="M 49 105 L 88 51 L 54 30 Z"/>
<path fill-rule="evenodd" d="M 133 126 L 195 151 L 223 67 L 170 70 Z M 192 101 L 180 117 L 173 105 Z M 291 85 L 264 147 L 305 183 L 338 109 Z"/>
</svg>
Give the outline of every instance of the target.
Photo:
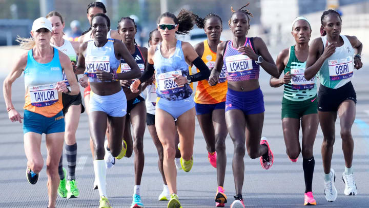
<svg viewBox="0 0 369 208">
<path fill-rule="evenodd" d="M 250 4 L 250 3 L 249 3 Z M 242 185 L 245 144 L 250 158 L 260 158 L 262 168 L 273 165 L 273 153 L 265 137 L 261 138 L 264 122 L 264 101 L 259 86 L 260 66 L 274 77 L 277 67 L 267 46 L 260 37 L 247 37 L 252 14 L 244 9 L 233 12 L 229 27 L 233 39 L 218 44 L 214 69 L 209 78 L 211 86 L 220 82 L 222 67 L 226 67 L 228 91 L 226 96 L 226 123 L 234 145 L 232 161 L 236 200 L 232 208 L 244 207 Z"/>
</svg>

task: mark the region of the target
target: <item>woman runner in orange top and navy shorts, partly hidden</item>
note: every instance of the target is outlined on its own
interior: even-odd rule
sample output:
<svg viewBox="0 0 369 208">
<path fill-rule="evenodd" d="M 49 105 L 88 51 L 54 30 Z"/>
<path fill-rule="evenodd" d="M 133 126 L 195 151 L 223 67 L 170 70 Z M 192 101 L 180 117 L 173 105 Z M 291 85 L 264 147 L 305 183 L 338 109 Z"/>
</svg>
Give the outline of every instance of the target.
<svg viewBox="0 0 369 208">
<path fill-rule="evenodd" d="M 194 48 L 202 61 L 212 70 L 216 60 L 217 46 L 221 42 L 222 21 L 218 15 L 213 13 L 204 18 L 195 16 L 197 27 L 204 29 L 208 38 L 196 44 Z M 227 196 L 223 188 L 227 164 L 225 140 L 228 134 L 224 117 L 227 93 L 225 69 L 222 67 L 218 85 L 210 86 L 208 80 L 199 81 L 195 93 L 196 117 L 207 143 L 208 159 L 210 164 L 217 168 L 218 188 L 215 196 L 217 207 L 223 207 L 224 203 L 227 203 Z"/>
</svg>

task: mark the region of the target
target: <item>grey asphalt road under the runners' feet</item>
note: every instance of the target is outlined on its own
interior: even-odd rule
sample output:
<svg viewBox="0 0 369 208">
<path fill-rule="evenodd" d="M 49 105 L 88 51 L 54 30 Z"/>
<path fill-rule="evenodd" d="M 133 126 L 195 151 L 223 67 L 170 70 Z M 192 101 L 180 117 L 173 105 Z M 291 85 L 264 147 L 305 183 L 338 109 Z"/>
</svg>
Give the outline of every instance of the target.
<svg viewBox="0 0 369 208">
<path fill-rule="evenodd" d="M 357 92 L 356 120 L 352 128 L 355 140 L 354 177 L 358 195 L 345 196 L 341 174 L 344 170 L 344 160 L 341 149 L 339 120 L 336 122 L 336 144 L 332 168 L 337 174 L 336 187 L 338 198 L 335 202 L 327 202 L 323 194 L 323 171 L 320 146 L 322 131 L 319 127 L 314 145 L 316 161 L 313 193 L 319 206 L 324 207 L 369 207 L 369 67 L 367 65 L 355 71 L 353 84 Z M 0 78 L 4 80 L 4 78 Z M 24 83 L 19 78 L 13 84 L 12 99 L 15 108 L 23 114 Z M 301 207 L 303 205 L 304 180 L 302 157 L 297 163 L 292 163 L 285 154 L 285 145 L 281 126 L 282 87 L 271 88 L 269 75 L 261 71 L 260 85 L 264 94 L 265 119 L 263 136 L 269 139 L 274 152 L 274 165 L 265 171 L 259 160 L 244 158 L 245 180 L 243 197 L 246 206 L 252 207 Z M 2 87 L 2 85 L 1 85 Z M 205 142 L 196 122 L 194 145 L 194 165 L 189 173 L 178 172 L 178 195 L 183 207 L 214 207 L 216 193 L 216 169 L 208 161 Z M 80 191 L 77 199 L 57 198 L 56 207 L 97 207 L 98 191 L 92 190 L 94 171 L 89 146 L 89 130 L 87 114 L 80 118 L 76 133 L 78 144 L 76 180 Z M 301 138 L 301 132 L 300 132 Z M 227 171 L 224 188 L 228 195 L 230 206 L 235 193 L 232 156 L 233 144 L 228 136 Z M 141 183 L 141 197 L 145 207 L 167 207 L 167 202 L 157 201 L 162 190 L 162 180 L 157 168 L 157 152 L 146 130 L 144 138 L 145 168 Z M 45 139 L 42 143 L 42 153 L 46 159 Z M 64 160 L 66 165 L 66 160 Z M 0 207 L 46 207 L 47 206 L 47 176 L 46 166 L 40 173 L 35 185 L 27 182 L 25 177 L 26 157 L 23 146 L 23 130 L 19 123 L 9 121 L 4 99 L 0 100 Z M 130 207 L 134 186 L 133 156 L 119 160 L 107 172 L 107 192 L 112 207 Z"/>
</svg>

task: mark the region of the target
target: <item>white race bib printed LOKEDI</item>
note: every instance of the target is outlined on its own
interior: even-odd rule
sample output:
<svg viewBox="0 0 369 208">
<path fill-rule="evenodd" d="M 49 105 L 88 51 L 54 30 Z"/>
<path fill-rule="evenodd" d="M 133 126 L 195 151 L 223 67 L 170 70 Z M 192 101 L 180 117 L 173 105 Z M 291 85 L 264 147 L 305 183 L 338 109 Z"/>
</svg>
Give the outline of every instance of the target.
<svg viewBox="0 0 369 208">
<path fill-rule="evenodd" d="M 252 60 L 247 55 L 232 55 L 226 57 L 226 66 L 230 77 L 239 77 L 252 73 Z"/>
</svg>

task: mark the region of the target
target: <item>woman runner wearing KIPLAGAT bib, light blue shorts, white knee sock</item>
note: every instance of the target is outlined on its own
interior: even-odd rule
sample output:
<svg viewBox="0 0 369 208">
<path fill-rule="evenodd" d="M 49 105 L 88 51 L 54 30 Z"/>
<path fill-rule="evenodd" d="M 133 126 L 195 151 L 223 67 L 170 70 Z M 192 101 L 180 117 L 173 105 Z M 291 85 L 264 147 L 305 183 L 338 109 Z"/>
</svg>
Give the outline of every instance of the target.
<svg viewBox="0 0 369 208">
<path fill-rule="evenodd" d="M 109 17 L 95 14 L 91 20 L 94 40 L 84 42 L 79 47 L 77 69 L 86 70 L 82 79 L 91 85 L 89 106 L 90 135 L 94 143 L 95 180 L 100 195 L 100 206 L 109 208 L 106 192 L 105 133 L 109 126 L 110 152 L 120 159 L 125 156 L 123 133 L 126 121 L 127 100 L 118 80 L 138 78 L 141 74 L 127 47 L 118 40 L 107 39 L 110 29 Z M 126 60 L 131 70 L 120 73 L 120 60 Z M 86 76 L 87 75 L 87 76 Z"/>
</svg>

